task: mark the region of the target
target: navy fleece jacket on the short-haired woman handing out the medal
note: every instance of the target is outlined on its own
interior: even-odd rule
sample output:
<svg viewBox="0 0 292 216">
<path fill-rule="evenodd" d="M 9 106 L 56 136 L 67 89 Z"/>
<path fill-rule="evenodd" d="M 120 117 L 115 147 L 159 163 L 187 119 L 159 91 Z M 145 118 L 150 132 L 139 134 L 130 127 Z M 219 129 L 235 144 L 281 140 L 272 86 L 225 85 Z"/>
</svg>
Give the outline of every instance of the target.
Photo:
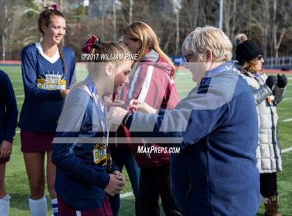
<svg viewBox="0 0 292 216">
<path fill-rule="evenodd" d="M 154 132 L 148 134 L 151 123 Z M 232 63 L 206 72 L 174 110 L 158 116 L 137 112 L 127 128 L 139 137 L 181 137 L 181 152 L 172 154 L 171 178 L 183 215 L 256 215 L 257 110 L 248 83 Z"/>
</svg>

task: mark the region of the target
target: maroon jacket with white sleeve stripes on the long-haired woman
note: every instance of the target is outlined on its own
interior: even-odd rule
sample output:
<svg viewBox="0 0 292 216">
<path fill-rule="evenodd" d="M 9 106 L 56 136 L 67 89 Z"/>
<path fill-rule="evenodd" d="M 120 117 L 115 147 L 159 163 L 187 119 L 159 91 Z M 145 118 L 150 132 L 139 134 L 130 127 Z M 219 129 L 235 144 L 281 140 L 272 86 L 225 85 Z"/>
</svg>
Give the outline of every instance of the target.
<svg viewBox="0 0 292 216">
<path fill-rule="evenodd" d="M 131 99 L 138 99 L 145 101 L 155 109 L 174 109 L 179 102 L 179 96 L 173 79 L 174 69 L 172 65 L 154 50 L 151 50 L 134 67 L 136 70 L 131 74 L 129 85 L 122 87 L 117 100 L 127 100 L 129 102 Z M 130 138 L 131 136 L 129 130 L 125 127 L 120 127 L 117 134 L 118 137 Z M 143 139 L 140 140 L 140 145 L 144 145 Z M 127 144 L 123 145 L 127 146 Z M 156 146 L 149 143 L 147 145 L 149 147 Z M 138 144 L 131 144 L 131 148 L 138 166 L 141 168 L 158 167 L 170 163 L 169 153 L 137 154 Z"/>
</svg>

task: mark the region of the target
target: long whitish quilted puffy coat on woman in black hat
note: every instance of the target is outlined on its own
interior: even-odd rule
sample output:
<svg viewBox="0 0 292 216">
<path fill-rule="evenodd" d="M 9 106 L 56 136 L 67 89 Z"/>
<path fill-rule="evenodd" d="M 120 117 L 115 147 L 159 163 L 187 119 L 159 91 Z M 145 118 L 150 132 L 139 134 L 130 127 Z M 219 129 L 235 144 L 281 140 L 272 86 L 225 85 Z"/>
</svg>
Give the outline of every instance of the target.
<svg viewBox="0 0 292 216">
<path fill-rule="evenodd" d="M 278 137 L 277 104 L 284 98 L 285 88 L 275 85 L 273 92 L 265 84 L 268 76 L 255 75 L 246 71 L 245 78 L 254 92 L 259 121 L 259 146 L 257 148 L 257 168 L 259 173 L 282 171 L 281 146 Z M 268 97 L 274 102 L 268 102 Z"/>
</svg>

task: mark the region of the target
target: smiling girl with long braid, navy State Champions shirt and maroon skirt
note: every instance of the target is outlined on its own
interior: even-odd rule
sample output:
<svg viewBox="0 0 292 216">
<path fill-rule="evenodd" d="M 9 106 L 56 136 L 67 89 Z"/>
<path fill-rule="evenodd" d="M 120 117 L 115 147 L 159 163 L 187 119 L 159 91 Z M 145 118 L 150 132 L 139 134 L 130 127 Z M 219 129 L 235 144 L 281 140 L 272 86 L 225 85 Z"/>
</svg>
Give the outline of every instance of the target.
<svg viewBox="0 0 292 216">
<path fill-rule="evenodd" d="M 75 83 L 75 56 L 71 49 L 60 45 L 65 36 L 66 22 L 56 5 L 46 7 L 40 13 L 38 28 L 43 36 L 42 42 L 22 49 L 25 98 L 19 118 L 32 216 L 47 214 L 44 176 L 47 176 L 54 215 L 58 214 L 54 190 L 56 167 L 51 163 L 52 140 L 56 135 L 63 100 Z M 44 175 L 46 153 L 47 175 Z"/>
</svg>

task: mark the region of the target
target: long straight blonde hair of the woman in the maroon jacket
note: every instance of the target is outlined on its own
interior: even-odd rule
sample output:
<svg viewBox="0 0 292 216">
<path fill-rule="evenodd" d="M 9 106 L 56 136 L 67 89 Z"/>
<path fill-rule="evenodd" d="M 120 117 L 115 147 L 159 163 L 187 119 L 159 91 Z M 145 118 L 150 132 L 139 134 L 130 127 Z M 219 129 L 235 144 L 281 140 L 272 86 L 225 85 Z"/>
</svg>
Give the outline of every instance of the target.
<svg viewBox="0 0 292 216">
<path fill-rule="evenodd" d="M 147 50 L 154 49 L 165 61 L 173 65 L 168 56 L 161 50 L 159 40 L 153 29 L 145 22 L 132 22 L 122 30 L 122 33 L 127 38 L 140 42 L 141 47 L 138 50 L 137 61 L 140 61 L 145 56 Z"/>
</svg>

